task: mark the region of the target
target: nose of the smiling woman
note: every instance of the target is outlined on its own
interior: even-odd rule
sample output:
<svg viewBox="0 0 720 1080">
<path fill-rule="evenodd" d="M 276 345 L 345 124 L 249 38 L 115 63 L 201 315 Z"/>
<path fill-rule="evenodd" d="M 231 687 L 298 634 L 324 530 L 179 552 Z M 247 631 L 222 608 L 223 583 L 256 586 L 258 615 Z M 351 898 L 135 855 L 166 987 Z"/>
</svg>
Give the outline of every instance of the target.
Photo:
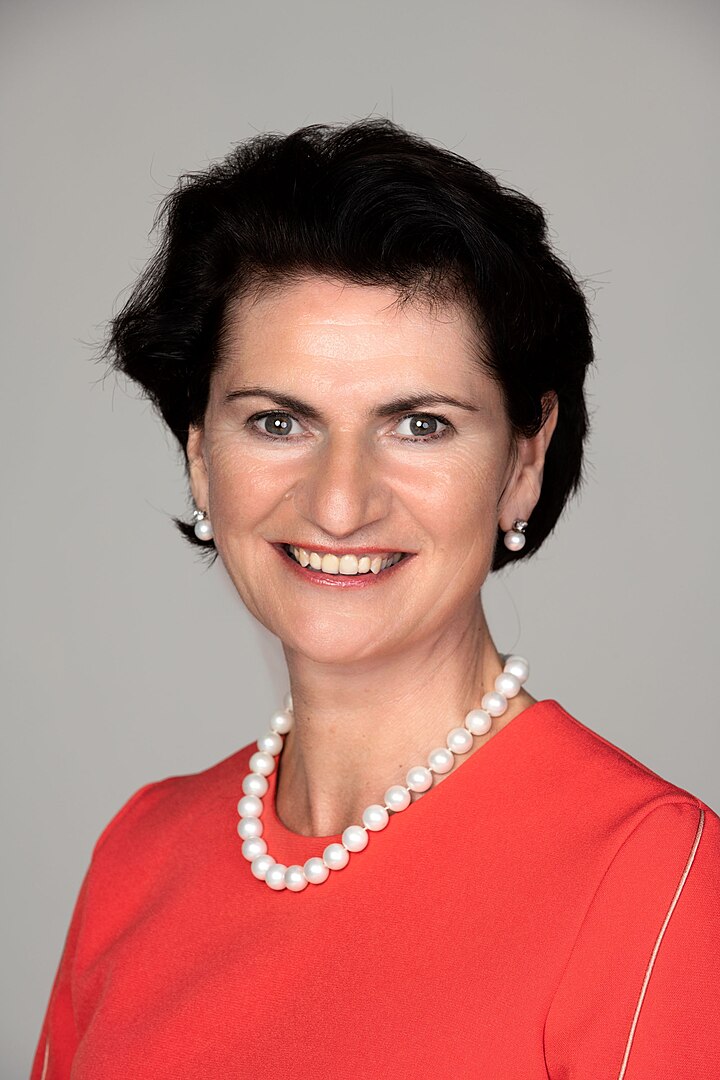
<svg viewBox="0 0 720 1080">
<path fill-rule="evenodd" d="M 366 534 L 388 514 L 391 490 L 364 441 L 335 432 L 305 464 L 295 485 L 296 509 L 327 537 Z"/>
</svg>

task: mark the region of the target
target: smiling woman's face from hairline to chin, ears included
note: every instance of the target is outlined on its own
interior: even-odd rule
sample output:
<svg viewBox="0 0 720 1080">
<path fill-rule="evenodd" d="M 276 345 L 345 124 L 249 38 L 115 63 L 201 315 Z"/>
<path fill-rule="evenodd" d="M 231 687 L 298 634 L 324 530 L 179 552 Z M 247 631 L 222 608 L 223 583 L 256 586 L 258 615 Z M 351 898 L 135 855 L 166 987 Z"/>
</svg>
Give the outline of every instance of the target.
<svg viewBox="0 0 720 1080">
<path fill-rule="evenodd" d="M 522 441 L 514 463 L 470 316 L 395 300 L 309 278 L 236 302 L 188 441 L 193 497 L 240 596 L 318 662 L 462 633 L 499 522 L 529 517 L 540 492 L 545 436 Z M 287 544 L 354 553 L 340 571 L 407 554 L 378 573 L 332 575 L 327 562 L 303 569 Z"/>
</svg>

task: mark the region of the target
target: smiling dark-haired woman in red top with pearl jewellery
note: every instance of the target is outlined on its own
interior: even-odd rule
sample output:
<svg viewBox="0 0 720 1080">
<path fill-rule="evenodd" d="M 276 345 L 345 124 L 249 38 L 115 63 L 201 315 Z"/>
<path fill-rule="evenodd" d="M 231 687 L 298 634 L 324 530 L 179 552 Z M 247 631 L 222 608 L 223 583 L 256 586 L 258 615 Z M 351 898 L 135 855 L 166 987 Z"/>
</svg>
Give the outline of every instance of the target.
<svg viewBox="0 0 720 1080">
<path fill-rule="evenodd" d="M 108 355 L 290 693 L 103 833 L 33 1078 L 720 1076 L 720 820 L 483 611 L 582 476 L 542 212 L 364 121 L 241 145 L 163 226 Z"/>
</svg>

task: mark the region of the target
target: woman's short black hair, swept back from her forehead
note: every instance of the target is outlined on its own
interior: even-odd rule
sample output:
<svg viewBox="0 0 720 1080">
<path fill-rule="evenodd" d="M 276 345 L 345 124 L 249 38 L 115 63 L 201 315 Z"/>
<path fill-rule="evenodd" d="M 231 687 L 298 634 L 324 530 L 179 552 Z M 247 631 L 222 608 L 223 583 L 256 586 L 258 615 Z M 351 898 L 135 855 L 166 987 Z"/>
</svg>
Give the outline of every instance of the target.
<svg viewBox="0 0 720 1080">
<path fill-rule="evenodd" d="M 246 139 L 184 174 L 153 230 L 155 254 L 110 321 L 103 355 L 153 403 L 186 472 L 230 300 L 308 273 L 393 286 L 404 300 L 462 296 L 514 435 L 535 434 L 553 394 L 558 401 L 526 544 L 508 551 L 498 528 L 491 569 L 540 548 L 583 480 L 583 383 L 594 354 L 583 291 L 551 249 L 536 203 L 390 120 L 366 119 Z M 173 521 L 216 557 L 191 524 Z"/>
</svg>

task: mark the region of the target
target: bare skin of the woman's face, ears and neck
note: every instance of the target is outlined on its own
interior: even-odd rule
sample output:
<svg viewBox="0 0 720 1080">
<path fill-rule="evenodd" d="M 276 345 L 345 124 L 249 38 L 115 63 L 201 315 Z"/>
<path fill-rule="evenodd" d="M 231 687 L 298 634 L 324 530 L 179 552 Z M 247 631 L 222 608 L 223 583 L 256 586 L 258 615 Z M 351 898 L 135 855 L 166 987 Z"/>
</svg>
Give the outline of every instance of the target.
<svg viewBox="0 0 720 1080">
<path fill-rule="evenodd" d="M 283 645 L 295 726 L 275 806 L 303 836 L 359 823 L 493 689 L 502 660 L 480 590 L 498 524 L 530 519 L 557 421 L 555 403 L 514 453 L 470 315 L 395 301 L 391 288 L 316 276 L 236 301 L 203 423 L 187 444 L 192 495 L 222 563 Z M 268 396 L 226 397 L 258 386 L 301 399 L 322 419 Z M 423 404 L 411 419 L 441 416 L 451 427 L 431 421 L 429 434 L 443 437 L 416 442 L 406 414 L 373 414 L 420 391 L 477 411 Z M 289 423 L 276 441 L 270 421 L 253 419 L 273 410 Z M 377 585 L 322 588 L 298 577 L 277 542 L 415 554 Z M 534 701 L 525 689 L 511 699 L 453 770 Z"/>
</svg>

